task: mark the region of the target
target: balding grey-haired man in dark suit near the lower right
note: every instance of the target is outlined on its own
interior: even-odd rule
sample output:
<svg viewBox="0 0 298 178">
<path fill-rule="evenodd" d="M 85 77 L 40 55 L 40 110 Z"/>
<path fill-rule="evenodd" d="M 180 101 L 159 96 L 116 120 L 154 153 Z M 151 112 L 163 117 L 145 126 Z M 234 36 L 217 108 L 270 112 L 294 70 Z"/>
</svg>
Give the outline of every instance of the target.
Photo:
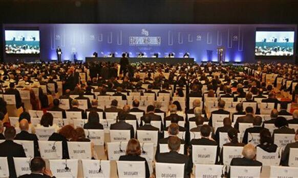
<svg viewBox="0 0 298 178">
<path fill-rule="evenodd" d="M 242 150 L 243 158 L 233 158 L 231 166 L 262 166 L 260 161 L 254 160 L 256 152 L 256 147 L 252 144 L 245 145 Z"/>
</svg>

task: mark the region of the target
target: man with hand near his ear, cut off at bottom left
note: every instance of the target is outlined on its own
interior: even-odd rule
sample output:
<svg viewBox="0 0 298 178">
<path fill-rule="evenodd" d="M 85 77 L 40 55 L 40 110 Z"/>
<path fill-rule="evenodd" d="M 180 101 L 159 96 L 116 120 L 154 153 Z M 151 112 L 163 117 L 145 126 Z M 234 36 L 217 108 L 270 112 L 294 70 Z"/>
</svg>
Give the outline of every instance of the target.
<svg viewBox="0 0 298 178">
<path fill-rule="evenodd" d="M 51 170 L 46 169 L 46 162 L 42 158 L 33 158 L 30 162 L 30 174 L 19 176 L 19 178 L 55 178 Z"/>
</svg>

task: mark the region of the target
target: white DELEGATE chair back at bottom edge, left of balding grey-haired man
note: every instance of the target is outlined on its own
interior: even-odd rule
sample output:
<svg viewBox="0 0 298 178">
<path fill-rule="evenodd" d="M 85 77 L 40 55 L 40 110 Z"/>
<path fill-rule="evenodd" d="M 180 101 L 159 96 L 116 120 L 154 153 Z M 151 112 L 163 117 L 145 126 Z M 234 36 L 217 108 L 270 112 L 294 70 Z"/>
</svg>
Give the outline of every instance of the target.
<svg viewBox="0 0 298 178">
<path fill-rule="evenodd" d="M 222 177 L 224 165 L 196 164 L 196 177 Z"/>
</svg>

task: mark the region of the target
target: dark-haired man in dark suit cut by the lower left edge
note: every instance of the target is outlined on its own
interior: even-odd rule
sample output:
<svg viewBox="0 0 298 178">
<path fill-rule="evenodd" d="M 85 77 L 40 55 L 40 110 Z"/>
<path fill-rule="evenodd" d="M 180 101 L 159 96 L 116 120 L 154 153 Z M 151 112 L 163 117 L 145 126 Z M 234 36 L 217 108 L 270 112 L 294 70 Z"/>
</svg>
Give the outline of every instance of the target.
<svg viewBox="0 0 298 178">
<path fill-rule="evenodd" d="M 13 126 L 6 128 L 5 132 L 5 141 L 0 143 L 0 157 L 7 157 L 8 168 L 9 168 L 9 177 L 15 178 L 16 172 L 14 169 L 14 157 L 26 157 L 24 148 L 22 145 L 14 143 L 13 139 L 15 137 L 15 129 Z"/>
</svg>

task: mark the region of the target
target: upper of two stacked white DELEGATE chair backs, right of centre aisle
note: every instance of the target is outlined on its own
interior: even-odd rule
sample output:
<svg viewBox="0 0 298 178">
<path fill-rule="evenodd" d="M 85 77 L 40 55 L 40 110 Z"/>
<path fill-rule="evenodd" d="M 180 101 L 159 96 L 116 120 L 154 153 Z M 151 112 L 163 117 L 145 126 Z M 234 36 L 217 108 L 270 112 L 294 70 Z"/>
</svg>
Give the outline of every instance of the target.
<svg viewBox="0 0 298 178">
<path fill-rule="evenodd" d="M 215 164 L 217 161 L 217 146 L 193 145 L 193 163 Z"/>
</svg>

